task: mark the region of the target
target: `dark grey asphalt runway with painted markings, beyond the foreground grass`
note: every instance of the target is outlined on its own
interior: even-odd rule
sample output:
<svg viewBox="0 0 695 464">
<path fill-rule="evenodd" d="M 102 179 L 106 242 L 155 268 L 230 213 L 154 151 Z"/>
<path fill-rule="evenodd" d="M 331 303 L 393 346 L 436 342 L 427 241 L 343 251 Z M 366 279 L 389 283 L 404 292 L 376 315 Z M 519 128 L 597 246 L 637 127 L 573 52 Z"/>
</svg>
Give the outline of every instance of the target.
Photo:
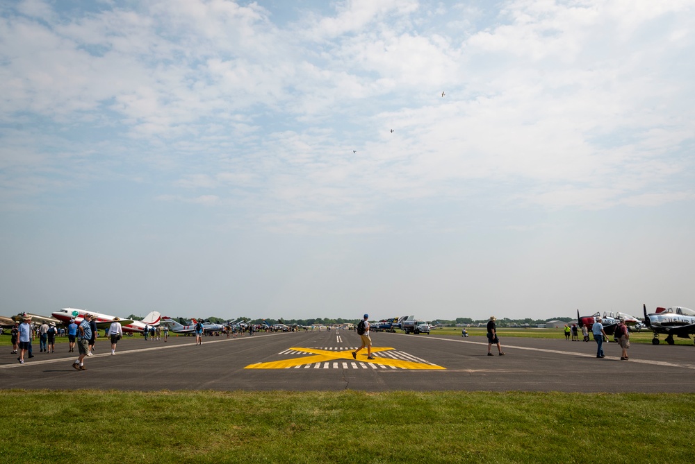
<svg viewBox="0 0 695 464">
<path fill-rule="evenodd" d="M 505 356 L 487 356 L 486 338 L 373 333 L 376 359 L 351 331 L 256 334 L 239 338 L 179 336 L 163 341 L 126 337 L 111 356 L 97 341 L 87 370 L 72 368 L 67 343 L 38 352 L 24 365 L 11 347 L 0 353 L 0 388 L 72 390 L 465 390 L 603 393 L 692 393 L 695 347 L 632 344 L 620 347 L 545 338 L 500 337 Z M 496 353 L 493 346 L 493 353 Z"/>
</svg>

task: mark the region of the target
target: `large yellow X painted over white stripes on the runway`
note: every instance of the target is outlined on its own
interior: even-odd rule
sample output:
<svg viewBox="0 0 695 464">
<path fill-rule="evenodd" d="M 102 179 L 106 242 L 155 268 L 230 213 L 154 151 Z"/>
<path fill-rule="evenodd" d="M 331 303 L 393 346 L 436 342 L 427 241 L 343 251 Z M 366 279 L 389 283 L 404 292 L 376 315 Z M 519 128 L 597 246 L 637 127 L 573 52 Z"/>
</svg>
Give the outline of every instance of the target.
<svg viewBox="0 0 695 464">
<path fill-rule="evenodd" d="M 322 363 L 325 361 L 336 361 L 338 359 L 347 359 L 348 361 L 355 361 L 354 359 L 352 359 L 352 352 L 350 350 L 329 351 L 318 350 L 317 348 L 300 347 L 293 347 L 290 348 L 290 350 L 301 351 L 305 353 L 313 353 L 313 356 L 302 356 L 300 358 L 283 359 L 281 361 L 270 361 L 268 363 L 255 363 L 246 366 L 245 369 L 286 369 L 294 368 L 296 366 L 304 366 L 306 364 Z M 376 353 L 389 350 L 393 350 L 393 348 L 373 347 L 372 354 L 374 355 Z M 401 369 L 445 369 L 441 366 L 436 366 L 434 364 L 416 363 L 415 361 L 405 361 L 403 359 L 379 357 L 377 357 L 377 359 L 367 359 L 366 352 L 359 352 L 357 354 L 357 361 L 361 363 L 379 364 L 381 366 L 393 366 L 395 368 Z"/>
</svg>

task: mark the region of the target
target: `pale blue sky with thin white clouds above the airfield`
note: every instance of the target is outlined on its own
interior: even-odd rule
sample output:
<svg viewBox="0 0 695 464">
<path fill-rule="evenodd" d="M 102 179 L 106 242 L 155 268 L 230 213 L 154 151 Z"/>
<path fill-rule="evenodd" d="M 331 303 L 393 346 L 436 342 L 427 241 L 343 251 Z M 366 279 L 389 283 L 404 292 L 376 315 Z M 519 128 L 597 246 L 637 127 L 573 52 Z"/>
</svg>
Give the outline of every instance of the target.
<svg viewBox="0 0 695 464">
<path fill-rule="evenodd" d="M 0 313 L 695 307 L 695 0 L 0 0 Z"/>
</svg>

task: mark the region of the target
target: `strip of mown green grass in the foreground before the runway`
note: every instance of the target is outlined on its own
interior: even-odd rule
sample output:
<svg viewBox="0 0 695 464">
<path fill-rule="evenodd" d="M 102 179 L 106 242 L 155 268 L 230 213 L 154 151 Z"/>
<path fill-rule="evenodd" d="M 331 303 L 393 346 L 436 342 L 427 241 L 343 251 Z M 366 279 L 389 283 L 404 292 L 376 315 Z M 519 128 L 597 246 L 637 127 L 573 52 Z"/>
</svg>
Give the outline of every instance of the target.
<svg viewBox="0 0 695 464">
<path fill-rule="evenodd" d="M 0 404 L 13 464 L 695 460 L 690 394 L 5 390 Z"/>
</svg>

